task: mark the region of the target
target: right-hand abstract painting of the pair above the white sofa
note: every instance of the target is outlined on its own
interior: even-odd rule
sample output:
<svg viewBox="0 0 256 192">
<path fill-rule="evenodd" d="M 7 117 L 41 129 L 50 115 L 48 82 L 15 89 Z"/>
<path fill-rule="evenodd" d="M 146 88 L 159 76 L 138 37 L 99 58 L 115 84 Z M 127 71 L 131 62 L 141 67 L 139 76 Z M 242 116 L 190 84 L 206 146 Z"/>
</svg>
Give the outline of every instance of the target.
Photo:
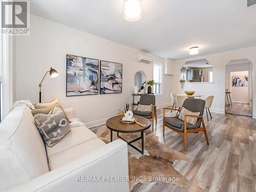
<svg viewBox="0 0 256 192">
<path fill-rule="evenodd" d="M 100 94 L 122 93 L 122 64 L 100 61 Z"/>
</svg>

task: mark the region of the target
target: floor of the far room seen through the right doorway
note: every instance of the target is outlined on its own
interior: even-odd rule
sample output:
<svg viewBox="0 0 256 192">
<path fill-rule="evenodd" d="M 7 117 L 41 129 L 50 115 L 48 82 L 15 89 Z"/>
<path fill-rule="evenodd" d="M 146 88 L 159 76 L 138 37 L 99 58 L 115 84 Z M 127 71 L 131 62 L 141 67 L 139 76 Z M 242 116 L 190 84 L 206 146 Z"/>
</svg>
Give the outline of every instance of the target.
<svg viewBox="0 0 256 192">
<path fill-rule="evenodd" d="M 228 114 L 237 114 L 237 115 L 245 115 L 245 116 L 251 116 L 251 107 L 248 103 L 235 103 L 231 106 L 225 107 L 225 112 Z"/>
</svg>

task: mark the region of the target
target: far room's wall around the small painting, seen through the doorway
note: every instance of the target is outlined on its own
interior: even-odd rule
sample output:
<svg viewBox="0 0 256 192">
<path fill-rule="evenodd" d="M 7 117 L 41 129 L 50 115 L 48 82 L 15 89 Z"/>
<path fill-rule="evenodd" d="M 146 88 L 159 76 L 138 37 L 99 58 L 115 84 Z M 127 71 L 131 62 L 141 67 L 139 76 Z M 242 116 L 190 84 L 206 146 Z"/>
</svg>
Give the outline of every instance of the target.
<svg viewBox="0 0 256 192">
<path fill-rule="evenodd" d="M 248 71 L 238 71 L 230 73 L 230 92 L 233 102 L 249 103 L 249 87 L 232 87 L 232 76 L 248 75 Z"/>
</svg>

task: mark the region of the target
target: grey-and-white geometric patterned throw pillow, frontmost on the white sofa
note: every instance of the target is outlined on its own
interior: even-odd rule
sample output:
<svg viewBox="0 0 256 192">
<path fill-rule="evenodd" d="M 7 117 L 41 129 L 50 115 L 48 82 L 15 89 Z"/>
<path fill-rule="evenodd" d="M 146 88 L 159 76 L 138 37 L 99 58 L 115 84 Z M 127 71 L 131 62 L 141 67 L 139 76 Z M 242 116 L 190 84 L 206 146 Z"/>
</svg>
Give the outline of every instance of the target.
<svg viewBox="0 0 256 192">
<path fill-rule="evenodd" d="M 70 125 L 62 110 L 53 108 L 50 114 L 37 114 L 35 124 L 49 147 L 57 144 L 70 131 Z"/>
</svg>

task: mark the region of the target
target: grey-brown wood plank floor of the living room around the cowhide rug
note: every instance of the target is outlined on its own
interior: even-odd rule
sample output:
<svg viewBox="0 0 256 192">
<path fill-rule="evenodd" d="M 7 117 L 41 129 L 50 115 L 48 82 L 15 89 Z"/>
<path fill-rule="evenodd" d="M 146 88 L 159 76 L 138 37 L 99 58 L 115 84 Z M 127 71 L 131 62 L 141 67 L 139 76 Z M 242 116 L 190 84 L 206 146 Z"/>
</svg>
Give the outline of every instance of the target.
<svg viewBox="0 0 256 192">
<path fill-rule="evenodd" d="M 168 115 L 174 115 L 167 113 Z M 212 113 L 204 120 L 209 137 L 204 133 L 187 135 L 187 152 L 183 137 L 165 129 L 162 136 L 163 110 L 152 134 L 175 150 L 186 154 L 190 161 L 174 161 L 174 167 L 190 181 L 188 188 L 165 183 L 137 184 L 136 191 L 255 191 L 256 190 L 256 121 L 248 116 Z"/>
</svg>

